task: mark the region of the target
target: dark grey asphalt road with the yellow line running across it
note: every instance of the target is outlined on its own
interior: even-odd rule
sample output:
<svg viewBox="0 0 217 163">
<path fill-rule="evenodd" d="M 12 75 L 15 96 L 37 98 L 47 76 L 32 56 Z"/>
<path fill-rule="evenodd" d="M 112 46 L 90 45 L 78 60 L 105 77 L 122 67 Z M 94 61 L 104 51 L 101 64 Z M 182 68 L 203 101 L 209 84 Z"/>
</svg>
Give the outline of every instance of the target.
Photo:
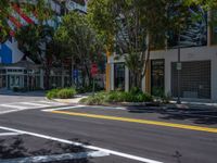
<svg viewBox="0 0 217 163">
<path fill-rule="evenodd" d="M 64 111 L 217 128 L 215 116 L 212 117 L 212 123 L 208 123 L 209 118 L 207 117 L 174 116 L 174 114 L 155 111 L 129 112 L 127 110 L 94 109 L 89 106 Z M 217 134 L 209 131 L 74 116 L 42 112 L 40 110 L 0 115 L 0 126 L 79 141 L 85 145 L 164 163 L 217 162 Z M 30 145 L 37 146 L 37 141 L 33 141 Z M 47 147 L 44 148 L 47 149 Z M 137 163 L 139 161 L 112 154 L 86 160 L 85 162 Z"/>
</svg>

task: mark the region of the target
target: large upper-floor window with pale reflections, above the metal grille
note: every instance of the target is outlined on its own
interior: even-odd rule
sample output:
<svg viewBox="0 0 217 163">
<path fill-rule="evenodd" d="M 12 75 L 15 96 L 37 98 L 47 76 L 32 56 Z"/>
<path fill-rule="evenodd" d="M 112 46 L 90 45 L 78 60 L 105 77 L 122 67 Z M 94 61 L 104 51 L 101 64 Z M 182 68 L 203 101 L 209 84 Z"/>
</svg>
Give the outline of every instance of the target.
<svg viewBox="0 0 217 163">
<path fill-rule="evenodd" d="M 199 47 L 207 45 L 207 13 L 200 7 L 189 8 L 190 16 L 187 20 L 187 28 L 181 32 L 180 47 Z M 175 11 L 169 13 L 176 14 Z M 178 35 L 168 33 L 168 47 L 178 47 Z"/>
</svg>

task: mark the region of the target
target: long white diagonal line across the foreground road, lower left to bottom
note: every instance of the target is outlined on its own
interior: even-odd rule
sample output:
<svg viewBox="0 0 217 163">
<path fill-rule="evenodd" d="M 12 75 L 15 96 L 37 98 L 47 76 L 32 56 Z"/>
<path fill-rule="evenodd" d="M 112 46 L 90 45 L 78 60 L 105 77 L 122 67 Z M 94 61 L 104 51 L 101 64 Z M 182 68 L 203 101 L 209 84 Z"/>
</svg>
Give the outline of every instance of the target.
<svg viewBox="0 0 217 163">
<path fill-rule="evenodd" d="M 88 145 L 84 145 L 80 142 L 69 141 L 69 140 L 65 140 L 65 139 L 61 139 L 61 138 L 47 136 L 47 135 L 24 131 L 24 130 L 20 130 L 20 129 L 3 127 L 3 126 L 0 126 L 0 129 L 15 131 L 15 133 L 22 133 L 22 134 L 26 134 L 26 135 L 30 135 L 30 136 L 35 136 L 35 137 L 39 137 L 39 138 L 44 138 L 44 139 L 49 139 L 49 140 L 54 140 L 54 141 L 59 141 L 59 142 L 63 142 L 63 143 L 68 143 L 68 145 L 73 145 L 73 146 L 79 146 L 79 147 L 82 147 L 86 149 L 97 150 L 97 151 L 105 152 L 107 154 L 113 154 L 113 155 L 117 155 L 117 156 L 122 156 L 122 158 L 126 158 L 126 159 L 130 159 L 130 160 L 135 160 L 135 161 L 144 162 L 144 163 L 163 163 L 163 162 L 158 162 L 158 161 L 151 160 L 151 159 L 145 159 L 145 158 L 127 154 L 127 153 L 123 153 L 123 152 L 118 152 L 118 151 L 113 151 L 113 150 L 108 150 L 108 149 L 104 149 L 104 148 L 100 148 L 100 147 L 88 146 Z"/>
</svg>

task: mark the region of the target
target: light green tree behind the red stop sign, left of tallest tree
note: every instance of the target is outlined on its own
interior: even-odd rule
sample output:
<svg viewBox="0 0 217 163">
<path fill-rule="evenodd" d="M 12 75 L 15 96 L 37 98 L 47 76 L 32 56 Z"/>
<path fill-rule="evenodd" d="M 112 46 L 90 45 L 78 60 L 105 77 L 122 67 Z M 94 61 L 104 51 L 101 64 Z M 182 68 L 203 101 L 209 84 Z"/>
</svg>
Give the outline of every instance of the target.
<svg viewBox="0 0 217 163">
<path fill-rule="evenodd" d="M 88 77 L 88 83 L 86 83 L 90 84 L 92 80 L 91 64 L 103 59 L 103 40 L 97 37 L 86 15 L 78 12 L 65 15 L 55 32 L 55 40 L 65 49 L 66 52 L 62 53 L 64 58 L 71 57 L 74 65 L 79 64 L 84 67 L 85 76 Z"/>
</svg>

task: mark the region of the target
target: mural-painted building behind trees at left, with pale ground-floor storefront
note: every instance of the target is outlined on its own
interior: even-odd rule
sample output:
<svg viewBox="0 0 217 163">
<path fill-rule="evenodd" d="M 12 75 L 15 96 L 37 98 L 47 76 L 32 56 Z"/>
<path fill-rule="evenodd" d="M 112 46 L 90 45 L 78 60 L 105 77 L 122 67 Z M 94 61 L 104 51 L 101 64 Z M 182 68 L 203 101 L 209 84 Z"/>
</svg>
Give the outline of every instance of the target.
<svg viewBox="0 0 217 163">
<path fill-rule="evenodd" d="M 50 0 L 49 2 L 56 13 L 56 20 L 48 22 L 50 26 L 55 26 L 67 10 L 82 9 L 81 12 L 85 12 L 84 10 L 87 9 L 86 0 L 78 2 Z M 8 20 L 11 37 L 4 43 L 0 43 L 0 89 L 25 88 L 34 90 L 44 88 L 46 73 L 42 66 L 35 64 L 28 58 L 24 61 L 24 53 L 18 49 L 18 42 L 13 37 L 16 28 L 33 23 L 37 24 L 37 17 L 34 13 L 26 14 L 18 5 L 12 5 L 12 12 Z M 49 85 L 54 88 L 71 86 L 71 77 L 72 74 L 68 70 L 51 67 Z"/>
</svg>

